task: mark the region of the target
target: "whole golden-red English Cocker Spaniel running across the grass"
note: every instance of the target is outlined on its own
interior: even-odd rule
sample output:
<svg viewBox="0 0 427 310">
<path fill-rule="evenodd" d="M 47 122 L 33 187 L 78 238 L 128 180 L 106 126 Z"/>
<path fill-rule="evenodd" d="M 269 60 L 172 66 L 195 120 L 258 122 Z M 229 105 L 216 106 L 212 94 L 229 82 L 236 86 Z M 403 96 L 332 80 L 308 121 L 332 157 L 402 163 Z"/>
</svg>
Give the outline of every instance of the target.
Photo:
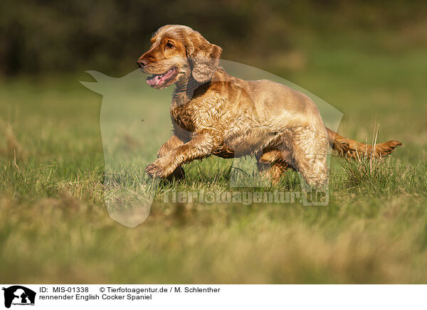
<svg viewBox="0 0 427 310">
<path fill-rule="evenodd" d="M 325 127 L 309 97 L 269 80 L 246 81 L 219 65 L 222 48 L 187 26 L 167 25 L 137 61 L 147 83 L 157 89 L 175 84 L 172 137 L 147 166 L 149 176 L 182 178 L 182 165 L 216 155 L 252 155 L 258 169 L 277 181 L 292 168 L 312 186 L 327 185 L 327 149 L 341 156 L 381 157 L 399 141 L 372 146 Z"/>
</svg>

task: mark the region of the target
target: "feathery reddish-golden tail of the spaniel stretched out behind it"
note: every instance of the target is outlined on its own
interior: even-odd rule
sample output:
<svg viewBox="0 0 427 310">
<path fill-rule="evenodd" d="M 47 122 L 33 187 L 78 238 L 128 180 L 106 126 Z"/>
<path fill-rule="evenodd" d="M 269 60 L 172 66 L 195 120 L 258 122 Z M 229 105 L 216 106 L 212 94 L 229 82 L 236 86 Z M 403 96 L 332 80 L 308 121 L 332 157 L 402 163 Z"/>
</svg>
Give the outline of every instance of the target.
<svg viewBox="0 0 427 310">
<path fill-rule="evenodd" d="M 352 159 L 364 158 L 381 158 L 391 154 L 397 146 L 403 145 L 399 141 L 391 140 L 388 142 L 375 144 L 374 149 L 372 145 L 359 143 L 352 139 L 340 136 L 336 132 L 327 128 L 327 134 L 330 141 L 330 146 L 334 151 L 337 151 L 339 156 L 349 157 Z"/>
</svg>

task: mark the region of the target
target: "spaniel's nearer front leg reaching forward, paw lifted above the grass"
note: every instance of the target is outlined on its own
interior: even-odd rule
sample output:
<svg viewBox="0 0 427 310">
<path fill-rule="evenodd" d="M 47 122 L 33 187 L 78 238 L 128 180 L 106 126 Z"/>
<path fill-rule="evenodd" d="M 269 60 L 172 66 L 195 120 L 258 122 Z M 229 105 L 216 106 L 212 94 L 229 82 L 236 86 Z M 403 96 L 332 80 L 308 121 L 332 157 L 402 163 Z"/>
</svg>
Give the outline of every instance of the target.
<svg viewBox="0 0 427 310">
<path fill-rule="evenodd" d="M 181 164 L 188 164 L 194 159 L 203 159 L 211 155 L 215 145 L 214 135 L 198 134 L 186 144 L 177 146 L 168 154 L 149 164 L 145 172 L 149 176 L 166 178 Z"/>
</svg>

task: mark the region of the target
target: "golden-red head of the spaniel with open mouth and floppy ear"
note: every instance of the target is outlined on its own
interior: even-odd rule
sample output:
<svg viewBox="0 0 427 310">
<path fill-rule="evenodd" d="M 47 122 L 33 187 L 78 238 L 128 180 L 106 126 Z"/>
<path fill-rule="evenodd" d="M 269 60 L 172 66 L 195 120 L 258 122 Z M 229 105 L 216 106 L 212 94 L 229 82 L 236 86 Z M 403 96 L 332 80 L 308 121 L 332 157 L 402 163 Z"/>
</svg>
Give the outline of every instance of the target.
<svg viewBox="0 0 427 310">
<path fill-rule="evenodd" d="M 187 26 L 163 26 L 154 33 L 151 43 L 137 64 L 144 73 L 152 74 L 147 84 L 154 88 L 184 84 L 191 75 L 197 82 L 207 82 L 219 66 L 222 48 Z"/>
</svg>

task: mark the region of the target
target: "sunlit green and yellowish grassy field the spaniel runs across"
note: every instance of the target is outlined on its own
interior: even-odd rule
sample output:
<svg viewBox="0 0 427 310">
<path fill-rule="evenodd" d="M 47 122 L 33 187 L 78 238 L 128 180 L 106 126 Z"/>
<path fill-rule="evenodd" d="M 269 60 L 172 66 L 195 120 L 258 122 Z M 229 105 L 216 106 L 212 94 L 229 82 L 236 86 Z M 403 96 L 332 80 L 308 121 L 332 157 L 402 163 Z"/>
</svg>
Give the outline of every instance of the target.
<svg viewBox="0 0 427 310">
<path fill-rule="evenodd" d="M 136 228 L 105 208 L 102 97 L 78 83 L 90 77 L 0 80 L 1 282 L 426 283 L 427 58 L 407 46 L 374 53 L 369 40 L 296 51 L 301 65 L 275 73 L 342 111 L 340 134 L 370 141 L 376 119 L 379 141 L 404 143 L 392 158 L 332 158 L 327 206 L 163 203 L 173 188 L 236 191 L 230 161 L 192 163 L 185 181 L 159 184 Z M 152 102 L 141 108 L 168 119 L 169 91 L 146 89 L 133 95 Z M 157 129 L 150 151 L 128 137 L 129 154 L 154 158 L 169 132 Z M 142 162 L 120 186 L 144 181 Z"/>
</svg>

